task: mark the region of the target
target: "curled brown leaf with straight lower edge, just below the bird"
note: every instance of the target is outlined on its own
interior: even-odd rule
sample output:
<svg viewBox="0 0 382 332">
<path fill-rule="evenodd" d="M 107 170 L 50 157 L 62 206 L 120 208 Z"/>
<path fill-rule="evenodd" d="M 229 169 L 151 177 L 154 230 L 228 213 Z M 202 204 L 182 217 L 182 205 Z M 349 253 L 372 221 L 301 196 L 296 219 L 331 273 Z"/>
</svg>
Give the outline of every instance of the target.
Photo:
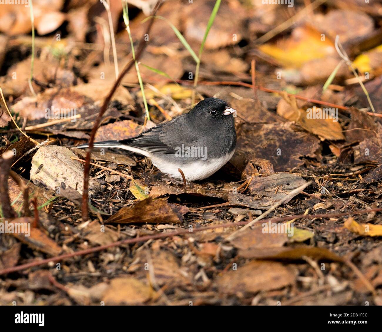
<svg viewBox="0 0 382 332">
<path fill-rule="evenodd" d="M 133 207 L 122 207 L 105 223 L 180 223 L 186 212 L 186 206 L 176 206 L 164 199 L 147 198 Z"/>
</svg>

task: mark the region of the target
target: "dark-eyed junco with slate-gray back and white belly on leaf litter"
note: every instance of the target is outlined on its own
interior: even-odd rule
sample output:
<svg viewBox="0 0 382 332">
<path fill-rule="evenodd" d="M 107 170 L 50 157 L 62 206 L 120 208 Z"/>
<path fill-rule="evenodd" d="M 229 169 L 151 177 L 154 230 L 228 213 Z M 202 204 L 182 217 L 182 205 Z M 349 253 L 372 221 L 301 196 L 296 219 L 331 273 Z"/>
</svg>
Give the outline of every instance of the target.
<svg viewBox="0 0 382 332">
<path fill-rule="evenodd" d="M 118 147 L 149 157 L 159 170 L 187 181 L 209 177 L 231 159 L 236 147 L 233 113 L 227 103 L 207 98 L 191 111 L 121 141 L 94 143 L 94 147 Z M 88 147 L 88 144 L 77 147 Z"/>
</svg>

